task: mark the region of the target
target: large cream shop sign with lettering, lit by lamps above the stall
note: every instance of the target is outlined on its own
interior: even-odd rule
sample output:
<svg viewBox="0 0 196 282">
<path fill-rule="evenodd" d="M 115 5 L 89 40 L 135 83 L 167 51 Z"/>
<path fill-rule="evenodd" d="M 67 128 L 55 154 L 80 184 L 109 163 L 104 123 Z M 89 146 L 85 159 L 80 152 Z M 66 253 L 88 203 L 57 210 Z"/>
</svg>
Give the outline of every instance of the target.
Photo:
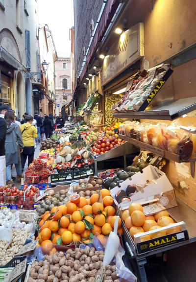
<svg viewBox="0 0 196 282">
<path fill-rule="evenodd" d="M 144 56 L 144 24 L 126 30 L 104 58 L 100 73 L 101 87 Z"/>
</svg>

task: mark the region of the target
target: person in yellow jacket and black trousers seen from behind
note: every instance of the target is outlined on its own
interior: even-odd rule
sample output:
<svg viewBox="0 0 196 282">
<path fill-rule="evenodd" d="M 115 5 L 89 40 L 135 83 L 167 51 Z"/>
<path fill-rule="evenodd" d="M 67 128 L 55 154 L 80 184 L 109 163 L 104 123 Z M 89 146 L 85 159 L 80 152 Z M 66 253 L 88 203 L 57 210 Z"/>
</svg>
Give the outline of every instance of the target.
<svg viewBox="0 0 196 282">
<path fill-rule="evenodd" d="M 24 149 L 21 153 L 21 165 L 22 165 L 22 172 L 24 172 L 25 162 L 28 157 L 28 166 L 32 163 L 34 158 L 34 138 L 37 138 L 37 130 L 32 125 L 33 117 L 30 115 L 25 116 L 25 123 L 20 126 Z"/>
</svg>

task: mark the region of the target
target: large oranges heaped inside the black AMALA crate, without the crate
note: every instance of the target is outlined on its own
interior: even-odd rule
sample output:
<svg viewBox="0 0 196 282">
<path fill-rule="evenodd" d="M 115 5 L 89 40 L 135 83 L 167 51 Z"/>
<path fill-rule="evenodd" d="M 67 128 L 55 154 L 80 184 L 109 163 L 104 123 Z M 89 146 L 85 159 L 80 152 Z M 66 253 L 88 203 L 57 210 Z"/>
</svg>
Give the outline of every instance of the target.
<svg viewBox="0 0 196 282">
<path fill-rule="evenodd" d="M 128 210 L 122 212 L 122 219 L 129 234 L 134 239 L 134 235 L 145 233 L 147 231 L 160 229 L 165 226 L 174 224 L 173 219 L 169 216 L 167 211 L 160 211 L 154 215 L 145 215 L 143 213 L 143 207 L 138 203 L 132 203 Z M 171 229 L 156 232 L 150 235 L 141 236 L 141 242 L 161 237 L 164 235 L 180 232 L 180 226 L 173 227 Z"/>
</svg>

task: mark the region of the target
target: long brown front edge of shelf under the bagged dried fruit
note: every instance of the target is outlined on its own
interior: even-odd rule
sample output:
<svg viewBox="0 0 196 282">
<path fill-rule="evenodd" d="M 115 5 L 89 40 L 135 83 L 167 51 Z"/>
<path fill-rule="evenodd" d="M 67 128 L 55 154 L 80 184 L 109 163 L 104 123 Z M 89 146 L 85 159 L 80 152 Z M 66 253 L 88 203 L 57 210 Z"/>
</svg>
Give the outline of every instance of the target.
<svg viewBox="0 0 196 282">
<path fill-rule="evenodd" d="M 163 150 L 163 149 L 160 149 L 158 147 L 154 147 L 150 144 L 146 144 L 144 142 L 141 142 L 141 141 L 138 141 L 138 140 L 135 140 L 135 139 L 132 139 L 130 137 L 127 137 L 127 136 L 124 136 L 122 134 L 119 134 L 119 138 L 125 140 L 125 141 L 128 141 L 129 143 L 131 144 L 134 144 L 135 146 L 137 147 L 140 147 L 141 149 L 144 149 L 144 150 L 148 150 L 150 151 L 151 153 L 153 154 L 156 154 L 156 155 L 159 155 L 159 156 L 162 156 L 162 157 L 165 157 L 171 161 L 174 161 L 176 163 L 191 163 L 191 162 L 196 162 L 196 159 L 191 159 L 190 161 L 182 161 L 180 159 L 180 156 L 176 155 L 176 154 L 173 154 L 169 151 L 166 151 L 166 150 Z"/>
</svg>

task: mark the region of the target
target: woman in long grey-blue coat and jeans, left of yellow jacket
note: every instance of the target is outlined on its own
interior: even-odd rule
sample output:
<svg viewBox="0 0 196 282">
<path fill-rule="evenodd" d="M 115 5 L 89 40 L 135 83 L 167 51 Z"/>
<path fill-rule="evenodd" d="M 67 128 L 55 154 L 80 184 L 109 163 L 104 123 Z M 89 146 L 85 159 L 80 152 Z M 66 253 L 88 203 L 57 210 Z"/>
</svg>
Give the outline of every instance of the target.
<svg viewBox="0 0 196 282">
<path fill-rule="evenodd" d="M 9 187 L 14 186 L 11 170 L 12 164 L 15 164 L 17 173 L 17 182 L 21 182 L 21 153 L 23 152 L 24 144 L 20 126 L 14 120 L 14 112 L 8 110 L 5 113 L 6 121 L 6 139 L 5 139 L 5 161 L 6 161 L 6 181 Z"/>
</svg>

